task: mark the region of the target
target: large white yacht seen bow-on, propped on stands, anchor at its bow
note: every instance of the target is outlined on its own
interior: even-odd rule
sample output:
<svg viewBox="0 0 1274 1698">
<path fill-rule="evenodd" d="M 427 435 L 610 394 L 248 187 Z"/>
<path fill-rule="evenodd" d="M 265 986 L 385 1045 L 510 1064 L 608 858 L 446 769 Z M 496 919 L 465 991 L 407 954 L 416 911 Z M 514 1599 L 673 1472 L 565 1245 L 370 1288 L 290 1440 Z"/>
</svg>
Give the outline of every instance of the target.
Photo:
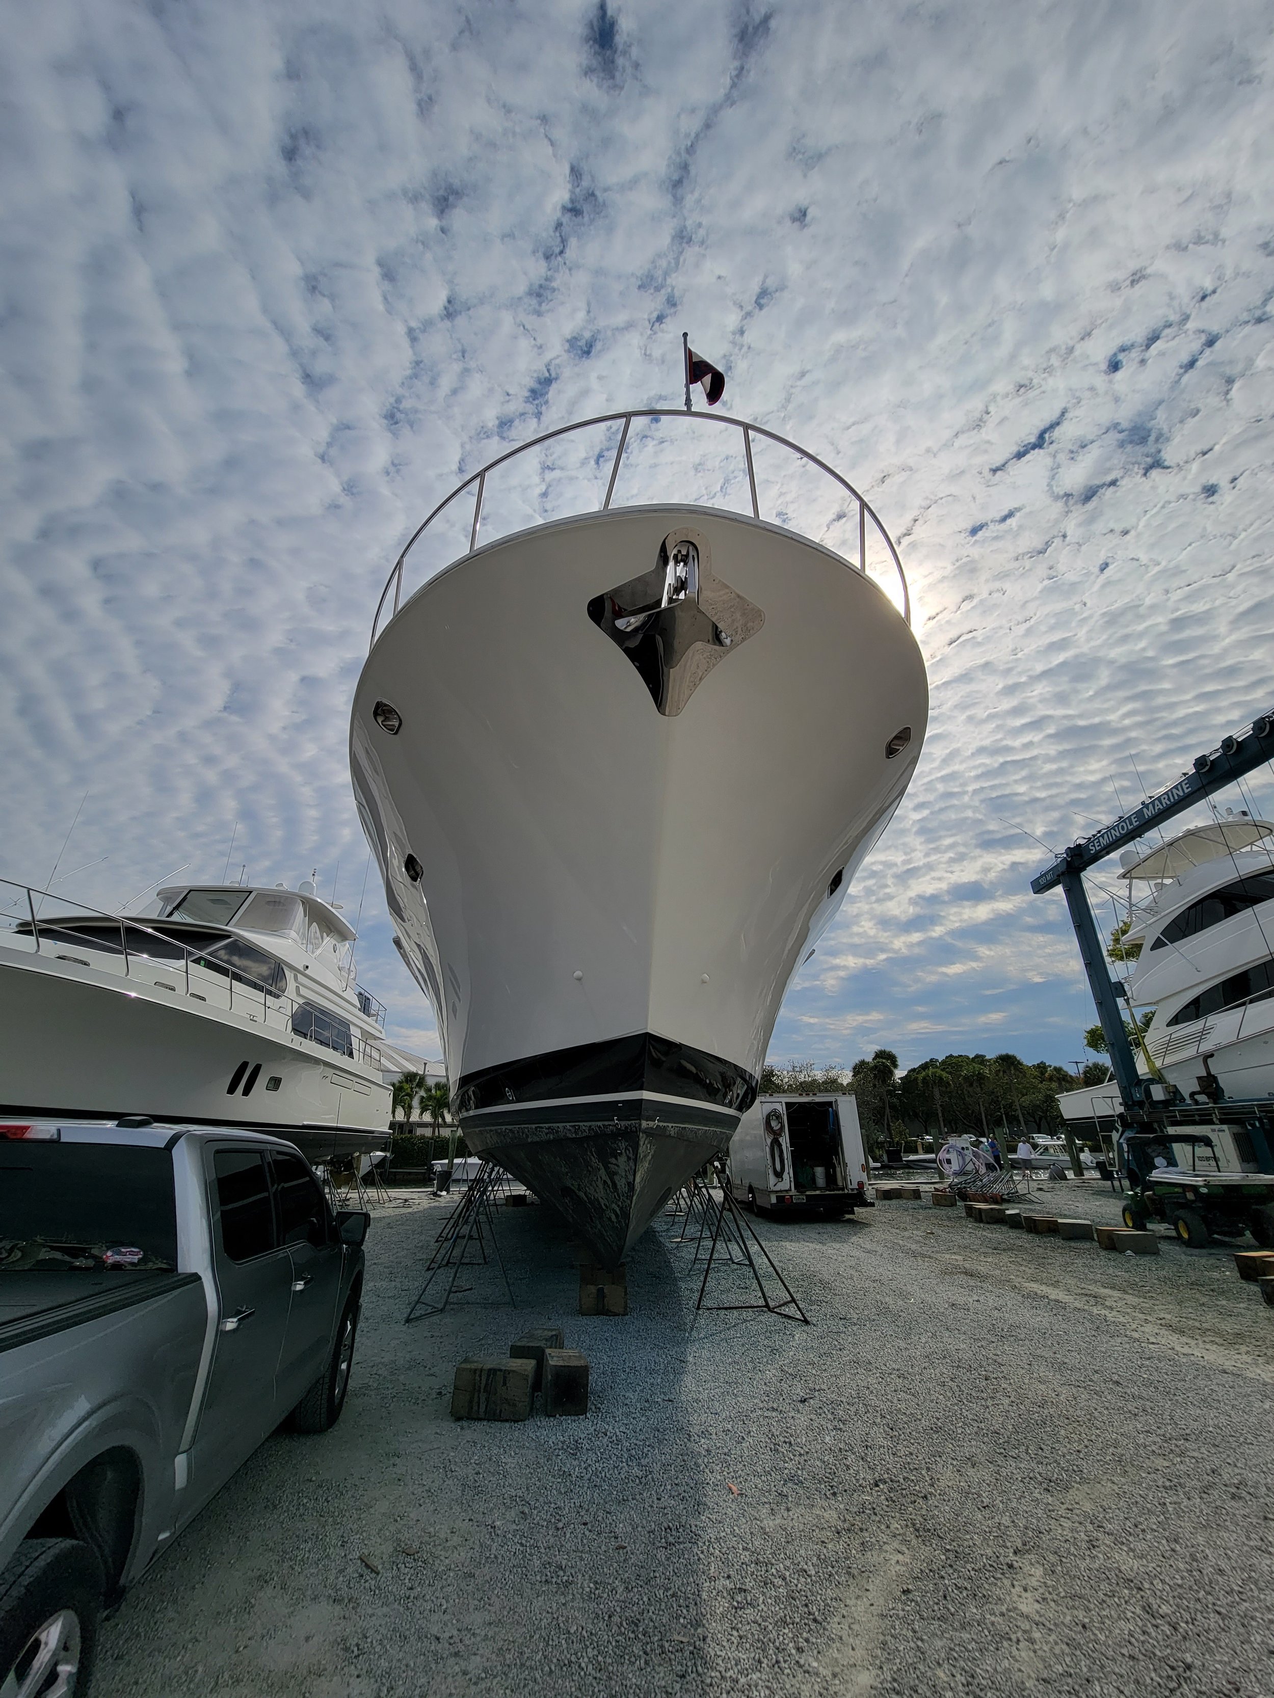
<svg viewBox="0 0 1274 1698">
<path fill-rule="evenodd" d="M 350 730 L 364 829 L 469 1148 L 605 1265 L 756 1097 L 926 717 L 893 543 L 754 424 L 549 433 L 399 557 Z"/>
</svg>

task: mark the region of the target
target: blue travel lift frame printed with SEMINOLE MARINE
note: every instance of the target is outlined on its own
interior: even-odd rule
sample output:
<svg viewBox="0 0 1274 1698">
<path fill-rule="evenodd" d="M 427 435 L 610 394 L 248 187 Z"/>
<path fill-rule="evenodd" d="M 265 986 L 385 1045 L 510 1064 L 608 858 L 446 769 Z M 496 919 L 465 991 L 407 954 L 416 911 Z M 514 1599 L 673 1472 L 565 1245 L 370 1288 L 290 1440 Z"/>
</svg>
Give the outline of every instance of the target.
<svg viewBox="0 0 1274 1698">
<path fill-rule="evenodd" d="M 1136 1071 L 1133 1046 L 1128 1043 L 1123 1010 L 1119 1009 L 1123 985 L 1116 988 L 1106 968 L 1106 951 L 1097 924 L 1092 919 L 1087 891 L 1084 890 L 1084 873 L 1114 854 L 1116 849 L 1143 837 L 1152 825 L 1162 825 L 1177 813 L 1184 813 L 1186 808 L 1192 808 L 1198 801 L 1215 795 L 1215 791 L 1225 790 L 1226 784 L 1233 784 L 1271 759 L 1274 759 L 1274 708 L 1267 713 L 1259 713 L 1250 725 L 1233 737 L 1223 737 L 1216 749 L 1196 756 L 1194 769 L 1182 773 L 1175 784 L 1160 790 L 1158 795 L 1143 801 L 1140 808 L 1121 815 L 1091 837 L 1082 837 L 1079 842 L 1070 844 L 1043 873 L 1038 873 L 1031 880 L 1031 890 L 1036 897 L 1060 885 L 1067 898 L 1084 971 L 1089 975 L 1092 1000 L 1097 1004 L 1097 1017 L 1106 1037 L 1111 1070 L 1119 1087 L 1119 1099 L 1123 1102 L 1123 1116 L 1119 1119 L 1125 1126 L 1142 1131 L 1160 1129 L 1172 1117 L 1169 1099 L 1174 1095 L 1174 1088 L 1158 1080 L 1143 1080 Z M 1228 1112 L 1237 1107 L 1235 1104 L 1226 1104 Z M 1266 1136 L 1271 1104 L 1245 1104 L 1243 1109 L 1250 1112 L 1237 1114 L 1235 1117 L 1252 1122 L 1254 1144 L 1262 1153 L 1260 1167 L 1266 1172 L 1272 1172 L 1274 1161 L 1271 1160 L 1269 1139 Z"/>
</svg>

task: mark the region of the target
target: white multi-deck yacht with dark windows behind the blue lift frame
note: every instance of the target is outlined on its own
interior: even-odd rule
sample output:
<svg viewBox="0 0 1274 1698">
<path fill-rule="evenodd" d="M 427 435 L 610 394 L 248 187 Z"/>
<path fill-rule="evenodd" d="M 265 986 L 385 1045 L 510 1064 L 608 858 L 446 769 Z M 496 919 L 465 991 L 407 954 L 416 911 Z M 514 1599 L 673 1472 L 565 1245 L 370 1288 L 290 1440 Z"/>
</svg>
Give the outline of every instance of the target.
<svg viewBox="0 0 1274 1698">
<path fill-rule="evenodd" d="M 1274 1097 L 1274 825 L 1226 812 L 1121 876 L 1150 886 L 1121 939 L 1147 1049 L 1191 1102 Z"/>
</svg>

